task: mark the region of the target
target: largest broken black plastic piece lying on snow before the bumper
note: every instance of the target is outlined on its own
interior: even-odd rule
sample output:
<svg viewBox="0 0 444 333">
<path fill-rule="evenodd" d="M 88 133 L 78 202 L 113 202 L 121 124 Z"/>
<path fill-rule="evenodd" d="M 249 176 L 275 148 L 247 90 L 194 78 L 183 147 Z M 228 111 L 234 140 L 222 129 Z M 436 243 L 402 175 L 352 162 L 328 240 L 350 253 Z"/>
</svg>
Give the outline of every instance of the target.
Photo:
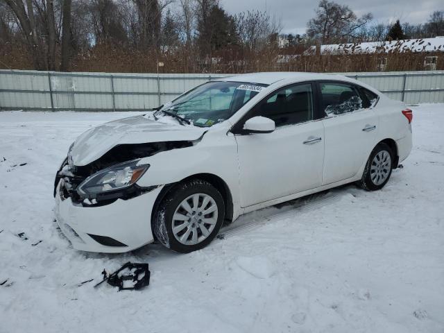
<svg viewBox="0 0 444 333">
<path fill-rule="evenodd" d="M 127 262 L 114 273 L 108 274 L 107 271 L 103 269 L 102 274 L 103 280 L 96 284 L 94 288 L 106 281 L 113 287 L 119 287 L 119 291 L 121 291 L 138 290 L 148 286 L 150 284 L 151 272 L 148 269 L 148 264 Z M 128 285 L 130 287 L 128 287 Z"/>
</svg>

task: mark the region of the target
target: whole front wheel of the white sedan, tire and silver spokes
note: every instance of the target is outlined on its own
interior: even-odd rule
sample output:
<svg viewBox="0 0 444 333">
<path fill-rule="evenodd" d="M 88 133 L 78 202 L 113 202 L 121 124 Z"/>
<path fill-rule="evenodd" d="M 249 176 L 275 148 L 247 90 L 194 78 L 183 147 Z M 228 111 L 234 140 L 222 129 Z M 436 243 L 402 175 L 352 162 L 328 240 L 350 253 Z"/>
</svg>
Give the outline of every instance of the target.
<svg viewBox="0 0 444 333">
<path fill-rule="evenodd" d="M 153 232 L 164 246 L 180 253 L 204 248 L 216 237 L 225 205 L 219 191 L 205 180 L 181 183 L 162 200 Z"/>
</svg>

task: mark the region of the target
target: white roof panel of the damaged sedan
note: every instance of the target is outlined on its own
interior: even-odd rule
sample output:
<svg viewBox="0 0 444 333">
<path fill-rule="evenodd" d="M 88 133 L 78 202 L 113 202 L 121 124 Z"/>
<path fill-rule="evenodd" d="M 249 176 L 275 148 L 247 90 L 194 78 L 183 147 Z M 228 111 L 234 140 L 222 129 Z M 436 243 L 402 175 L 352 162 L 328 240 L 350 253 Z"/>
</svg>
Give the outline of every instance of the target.
<svg viewBox="0 0 444 333">
<path fill-rule="evenodd" d="M 275 71 L 241 74 L 237 76 L 225 76 L 219 78 L 220 81 L 234 81 L 247 83 L 262 83 L 265 85 L 272 85 L 280 80 L 293 79 L 294 82 L 306 80 L 345 80 L 352 81 L 350 78 L 336 74 L 320 74 L 320 73 L 306 73 L 298 71 Z"/>
</svg>

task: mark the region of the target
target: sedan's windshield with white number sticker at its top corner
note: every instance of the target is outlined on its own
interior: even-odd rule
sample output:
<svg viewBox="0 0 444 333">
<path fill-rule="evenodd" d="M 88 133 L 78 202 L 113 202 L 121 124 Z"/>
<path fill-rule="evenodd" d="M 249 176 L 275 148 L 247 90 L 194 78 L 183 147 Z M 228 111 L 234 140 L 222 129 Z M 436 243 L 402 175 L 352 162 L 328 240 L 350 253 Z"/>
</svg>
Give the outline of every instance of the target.
<svg viewBox="0 0 444 333">
<path fill-rule="evenodd" d="M 173 112 L 194 126 L 210 127 L 230 118 L 263 87 L 258 83 L 213 81 L 192 89 L 158 112 Z"/>
</svg>

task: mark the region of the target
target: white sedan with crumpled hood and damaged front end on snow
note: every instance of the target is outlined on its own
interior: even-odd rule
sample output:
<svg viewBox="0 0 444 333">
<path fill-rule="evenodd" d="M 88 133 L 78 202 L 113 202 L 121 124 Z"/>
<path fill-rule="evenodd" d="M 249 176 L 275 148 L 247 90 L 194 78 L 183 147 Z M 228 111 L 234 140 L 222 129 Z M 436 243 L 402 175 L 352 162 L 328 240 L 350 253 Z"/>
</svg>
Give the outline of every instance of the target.
<svg viewBox="0 0 444 333">
<path fill-rule="evenodd" d="M 241 214 L 350 182 L 381 189 L 411 151 L 411 120 L 344 76 L 214 80 L 80 135 L 56 176 L 57 221 L 78 250 L 189 253 Z"/>
</svg>

